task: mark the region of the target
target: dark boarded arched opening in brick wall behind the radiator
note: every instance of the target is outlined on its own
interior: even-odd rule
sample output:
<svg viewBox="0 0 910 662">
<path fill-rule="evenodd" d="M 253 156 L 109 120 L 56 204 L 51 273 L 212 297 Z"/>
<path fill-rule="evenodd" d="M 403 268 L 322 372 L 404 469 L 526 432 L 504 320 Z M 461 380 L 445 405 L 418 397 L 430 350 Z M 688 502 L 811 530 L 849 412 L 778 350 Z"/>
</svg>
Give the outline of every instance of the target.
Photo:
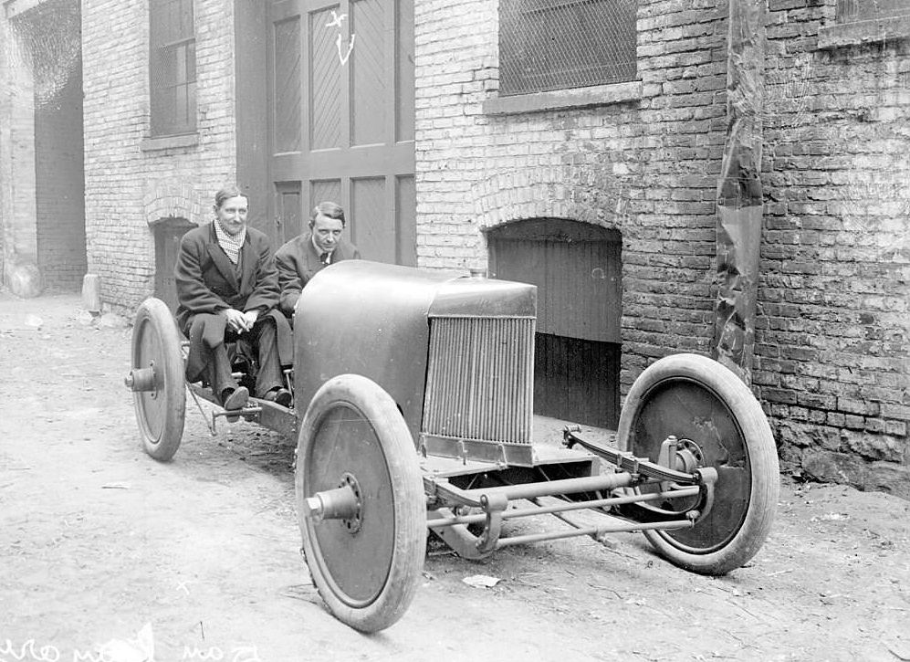
<svg viewBox="0 0 910 662">
<path fill-rule="evenodd" d="M 538 286 L 535 413 L 616 428 L 622 355 L 622 237 L 562 218 L 486 232 L 490 275 Z"/>
</svg>

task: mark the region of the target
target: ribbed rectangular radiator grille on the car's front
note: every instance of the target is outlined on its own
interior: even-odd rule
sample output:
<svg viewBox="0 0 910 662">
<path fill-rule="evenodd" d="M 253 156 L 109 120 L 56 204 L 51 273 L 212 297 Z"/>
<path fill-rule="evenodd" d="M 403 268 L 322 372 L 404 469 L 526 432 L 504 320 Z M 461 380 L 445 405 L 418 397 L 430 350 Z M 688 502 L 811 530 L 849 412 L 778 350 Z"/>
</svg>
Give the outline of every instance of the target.
<svg viewBox="0 0 910 662">
<path fill-rule="evenodd" d="M 532 318 L 433 318 L 424 433 L 529 445 Z"/>
</svg>

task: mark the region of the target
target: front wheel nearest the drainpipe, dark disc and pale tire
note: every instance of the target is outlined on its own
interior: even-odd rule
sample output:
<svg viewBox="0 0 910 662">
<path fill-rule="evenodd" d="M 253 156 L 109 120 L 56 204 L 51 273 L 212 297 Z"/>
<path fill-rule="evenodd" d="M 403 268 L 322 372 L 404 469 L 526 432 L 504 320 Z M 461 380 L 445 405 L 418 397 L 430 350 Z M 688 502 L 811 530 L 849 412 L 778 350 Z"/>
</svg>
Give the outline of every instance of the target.
<svg viewBox="0 0 910 662">
<path fill-rule="evenodd" d="M 620 415 L 617 445 L 656 461 L 667 436 L 695 442 L 717 470 L 714 504 L 692 529 L 644 531 L 668 561 L 721 575 L 748 562 L 768 537 L 779 466 L 768 420 L 746 384 L 720 363 L 675 354 L 649 366 Z"/>
</svg>

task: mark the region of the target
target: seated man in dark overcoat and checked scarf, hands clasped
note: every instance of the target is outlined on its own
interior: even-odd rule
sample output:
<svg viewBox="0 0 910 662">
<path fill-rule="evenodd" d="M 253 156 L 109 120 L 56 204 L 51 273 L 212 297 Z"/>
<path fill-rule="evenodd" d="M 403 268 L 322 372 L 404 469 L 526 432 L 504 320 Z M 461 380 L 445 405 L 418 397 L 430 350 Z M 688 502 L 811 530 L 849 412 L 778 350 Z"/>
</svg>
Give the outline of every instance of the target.
<svg viewBox="0 0 910 662">
<path fill-rule="evenodd" d="M 291 404 L 280 357 L 289 356 L 288 323 L 277 313 L 278 280 L 268 237 L 246 226 L 247 197 L 236 186 L 214 196 L 214 221 L 183 236 L 174 267 L 177 323 L 190 339 L 186 379 L 204 379 L 225 409 L 242 409 L 225 341 L 245 338 L 258 357 L 256 396 Z M 284 326 L 281 330 L 280 325 Z"/>
</svg>

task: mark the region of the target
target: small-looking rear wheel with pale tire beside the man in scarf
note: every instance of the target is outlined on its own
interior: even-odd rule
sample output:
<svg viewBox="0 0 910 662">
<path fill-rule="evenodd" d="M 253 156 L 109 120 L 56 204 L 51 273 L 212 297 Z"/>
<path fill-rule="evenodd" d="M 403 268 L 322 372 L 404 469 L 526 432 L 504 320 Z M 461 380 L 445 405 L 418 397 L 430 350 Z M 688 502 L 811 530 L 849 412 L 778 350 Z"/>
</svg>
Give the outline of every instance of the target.
<svg viewBox="0 0 910 662">
<path fill-rule="evenodd" d="M 180 447 L 186 415 L 186 386 L 180 333 L 161 299 L 145 299 L 132 327 L 132 368 L 152 367 L 154 388 L 134 391 L 133 405 L 142 447 L 167 462 Z"/>
</svg>

